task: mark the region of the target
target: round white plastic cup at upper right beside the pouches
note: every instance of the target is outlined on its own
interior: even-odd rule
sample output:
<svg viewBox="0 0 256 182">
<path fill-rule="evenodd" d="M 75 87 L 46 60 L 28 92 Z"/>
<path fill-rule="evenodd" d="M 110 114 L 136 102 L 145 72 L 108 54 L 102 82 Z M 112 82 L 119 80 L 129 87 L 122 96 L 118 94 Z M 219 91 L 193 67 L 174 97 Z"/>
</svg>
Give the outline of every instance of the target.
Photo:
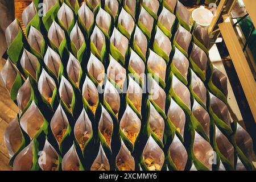
<svg viewBox="0 0 256 182">
<path fill-rule="evenodd" d="M 192 18 L 199 26 L 208 31 L 213 14 L 210 10 L 205 9 L 204 6 L 200 6 L 192 11 Z"/>
</svg>

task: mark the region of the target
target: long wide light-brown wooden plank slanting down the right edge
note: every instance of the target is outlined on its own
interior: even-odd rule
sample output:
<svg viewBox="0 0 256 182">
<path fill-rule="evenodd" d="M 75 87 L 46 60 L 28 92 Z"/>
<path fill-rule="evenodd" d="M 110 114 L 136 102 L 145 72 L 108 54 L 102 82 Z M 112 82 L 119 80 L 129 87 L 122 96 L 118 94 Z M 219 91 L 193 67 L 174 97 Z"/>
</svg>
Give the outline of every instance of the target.
<svg viewBox="0 0 256 182">
<path fill-rule="evenodd" d="M 249 64 L 247 63 L 245 54 L 240 46 L 240 42 L 232 26 L 232 22 L 230 22 L 228 16 L 223 16 L 223 19 L 224 22 L 218 24 L 218 27 L 220 27 L 222 38 L 228 48 L 229 55 L 241 82 L 243 92 L 245 93 L 247 102 L 250 106 L 254 121 L 256 121 L 256 82 L 253 74 L 251 73 Z"/>
</svg>

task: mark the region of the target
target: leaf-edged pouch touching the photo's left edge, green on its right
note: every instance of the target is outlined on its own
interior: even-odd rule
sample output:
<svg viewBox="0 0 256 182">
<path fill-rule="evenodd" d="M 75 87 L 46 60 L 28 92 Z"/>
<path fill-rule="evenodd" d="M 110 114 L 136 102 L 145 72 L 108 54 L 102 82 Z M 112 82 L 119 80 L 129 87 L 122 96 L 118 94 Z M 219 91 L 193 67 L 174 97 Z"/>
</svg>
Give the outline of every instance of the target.
<svg viewBox="0 0 256 182">
<path fill-rule="evenodd" d="M 10 93 L 11 100 L 15 101 L 23 79 L 10 59 L 6 61 L 0 72 L 0 81 Z"/>
</svg>

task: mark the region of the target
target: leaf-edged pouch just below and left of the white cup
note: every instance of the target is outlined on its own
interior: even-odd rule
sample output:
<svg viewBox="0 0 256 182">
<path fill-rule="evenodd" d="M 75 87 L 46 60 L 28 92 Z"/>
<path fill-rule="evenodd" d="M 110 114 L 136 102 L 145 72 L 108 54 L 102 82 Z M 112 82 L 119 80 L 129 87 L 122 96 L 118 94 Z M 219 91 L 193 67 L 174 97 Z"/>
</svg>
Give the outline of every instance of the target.
<svg viewBox="0 0 256 182">
<path fill-rule="evenodd" d="M 191 40 L 192 35 L 189 31 L 179 26 L 174 36 L 174 44 L 186 57 L 188 57 Z"/>
</svg>

